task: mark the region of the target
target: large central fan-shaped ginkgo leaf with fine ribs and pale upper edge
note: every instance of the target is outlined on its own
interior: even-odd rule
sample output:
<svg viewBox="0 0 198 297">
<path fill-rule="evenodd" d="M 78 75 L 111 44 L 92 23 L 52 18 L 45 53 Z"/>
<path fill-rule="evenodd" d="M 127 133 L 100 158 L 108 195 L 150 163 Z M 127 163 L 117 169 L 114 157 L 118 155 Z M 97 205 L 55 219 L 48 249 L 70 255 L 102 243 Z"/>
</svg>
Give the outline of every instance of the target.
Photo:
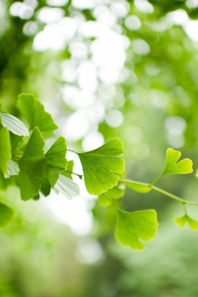
<svg viewBox="0 0 198 297">
<path fill-rule="evenodd" d="M 124 171 L 123 153 L 122 141 L 113 138 L 93 151 L 79 154 L 89 194 L 100 195 L 117 185 L 118 176 L 114 173 Z"/>
</svg>

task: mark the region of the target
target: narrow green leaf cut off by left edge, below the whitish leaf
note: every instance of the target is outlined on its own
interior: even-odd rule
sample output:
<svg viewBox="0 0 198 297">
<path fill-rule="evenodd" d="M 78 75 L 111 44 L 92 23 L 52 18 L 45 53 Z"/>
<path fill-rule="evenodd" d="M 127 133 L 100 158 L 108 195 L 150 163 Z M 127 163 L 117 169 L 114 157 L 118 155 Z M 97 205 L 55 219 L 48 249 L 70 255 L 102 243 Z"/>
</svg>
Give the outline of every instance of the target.
<svg viewBox="0 0 198 297">
<path fill-rule="evenodd" d="M 8 162 L 11 160 L 11 143 L 9 131 L 6 128 L 0 129 L 0 168 L 5 175 Z"/>
</svg>

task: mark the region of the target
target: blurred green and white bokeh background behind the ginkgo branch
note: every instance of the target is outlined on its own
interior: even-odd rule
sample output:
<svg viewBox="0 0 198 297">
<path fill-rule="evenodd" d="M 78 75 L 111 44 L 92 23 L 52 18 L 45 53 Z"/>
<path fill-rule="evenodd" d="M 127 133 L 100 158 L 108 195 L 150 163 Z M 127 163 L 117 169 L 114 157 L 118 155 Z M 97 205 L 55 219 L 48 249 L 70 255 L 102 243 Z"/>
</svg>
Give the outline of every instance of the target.
<svg viewBox="0 0 198 297">
<path fill-rule="evenodd" d="M 193 161 L 189 175 L 156 185 L 196 200 L 198 181 L 198 1 L 0 0 L 0 100 L 18 115 L 21 92 L 35 93 L 67 147 L 87 151 L 119 137 L 127 177 L 151 182 L 166 149 Z M 46 140 L 48 145 L 48 140 Z M 77 157 L 74 172 L 81 173 Z M 83 181 L 72 201 L 0 199 L 15 209 L 0 231 L 1 297 L 195 297 L 198 233 L 172 219 L 183 208 L 158 193 L 127 190 L 122 207 L 154 208 L 157 236 L 143 252 L 114 239 L 115 211 Z M 198 219 L 196 207 L 187 207 Z"/>
</svg>

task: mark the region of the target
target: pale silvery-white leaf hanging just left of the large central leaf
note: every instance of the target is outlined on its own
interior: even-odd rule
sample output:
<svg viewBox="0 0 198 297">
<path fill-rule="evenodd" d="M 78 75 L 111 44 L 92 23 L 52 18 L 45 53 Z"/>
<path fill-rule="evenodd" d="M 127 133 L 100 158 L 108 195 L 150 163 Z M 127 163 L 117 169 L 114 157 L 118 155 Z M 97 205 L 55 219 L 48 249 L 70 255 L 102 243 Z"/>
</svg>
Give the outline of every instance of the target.
<svg viewBox="0 0 198 297">
<path fill-rule="evenodd" d="M 57 183 L 54 186 L 54 192 L 57 195 L 61 193 L 63 196 L 71 200 L 73 197 L 79 196 L 80 189 L 77 183 L 74 183 L 73 180 L 69 179 L 67 176 L 60 174 Z"/>
</svg>

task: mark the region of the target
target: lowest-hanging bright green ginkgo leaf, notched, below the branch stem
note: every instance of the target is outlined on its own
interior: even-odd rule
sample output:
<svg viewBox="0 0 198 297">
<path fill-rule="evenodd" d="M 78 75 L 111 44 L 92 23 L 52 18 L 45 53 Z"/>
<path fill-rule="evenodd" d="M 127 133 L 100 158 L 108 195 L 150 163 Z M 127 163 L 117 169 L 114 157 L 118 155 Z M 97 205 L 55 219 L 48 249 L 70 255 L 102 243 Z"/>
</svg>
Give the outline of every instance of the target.
<svg viewBox="0 0 198 297">
<path fill-rule="evenodd" d="M 125 247 L 144 250 L 144 241 L 150 241 L 157 232 L 157 213 L 153 209 L 132 213 L 118 211 L 115 239 Z"/>
</svg>

